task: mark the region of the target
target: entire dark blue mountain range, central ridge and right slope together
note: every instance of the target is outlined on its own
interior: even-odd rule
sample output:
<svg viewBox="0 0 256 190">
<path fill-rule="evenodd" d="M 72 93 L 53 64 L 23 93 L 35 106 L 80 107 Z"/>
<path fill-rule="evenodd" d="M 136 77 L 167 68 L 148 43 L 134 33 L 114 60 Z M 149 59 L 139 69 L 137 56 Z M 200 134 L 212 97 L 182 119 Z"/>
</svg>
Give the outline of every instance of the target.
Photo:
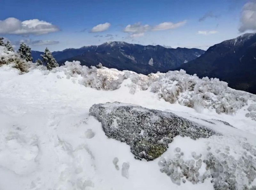
<svg viewBox="0 0 256 190">
<path fill-rule="evenodd" d="M 34 60 L 43 52 L 32 51 Z M 231 88 L 256 94 L 256 34 L 247 33 L 215 44 L 207 51 L 192 48 L 166 48 L 160 45 L 108 42 L 52 52 L 61 65 L 78 60 L 88 67 L 102 63 L 108 68 L 141 74 L 184 69 L 200 78 L 219 78 Z"/>
</svg>

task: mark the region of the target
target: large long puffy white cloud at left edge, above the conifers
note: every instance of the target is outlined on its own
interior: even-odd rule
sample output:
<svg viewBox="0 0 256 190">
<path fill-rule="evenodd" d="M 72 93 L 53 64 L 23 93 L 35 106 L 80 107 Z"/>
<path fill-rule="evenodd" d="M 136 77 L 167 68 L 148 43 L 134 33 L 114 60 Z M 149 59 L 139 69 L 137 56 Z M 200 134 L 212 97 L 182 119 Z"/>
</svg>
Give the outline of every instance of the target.
<svg viewBox="0 0 256 190">
<path fill-rule="evenodd" d="M 0 20 L 0 34 L 43 35 L 59 30 L 57 26 L 38 19 L 20 21 L 10 17 Z"/>
</svg>

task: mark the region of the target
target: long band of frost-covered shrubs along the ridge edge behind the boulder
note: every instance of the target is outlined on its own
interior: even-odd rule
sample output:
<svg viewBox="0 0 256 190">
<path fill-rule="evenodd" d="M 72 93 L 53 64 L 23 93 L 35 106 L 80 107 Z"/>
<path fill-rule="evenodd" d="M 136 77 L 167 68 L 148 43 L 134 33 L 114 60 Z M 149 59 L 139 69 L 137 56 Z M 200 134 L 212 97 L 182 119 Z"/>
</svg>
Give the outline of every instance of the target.
<svg viewBox="0 0 256 190">
<path fill-rule="evenodd" d="M 67 78 L 80 77 L 80 84 L 97 90 L 116 90 L 125 79 L 131 83 L 126 85 L 130 93 L 148 90 L 169 103 L 179 103 L 194 108 L 197 112 L 204 109 L 215 110 L 218 114 L 235 114 L 245 109 L 244 115 L 256 121 L 256 95 L 228 87 L 228 83 L 217 78 L 198 78 L 188 75 L 186 71 L 169 71 L 149 75 L 137 74 L 132 71 L 119 71 L 106 67 L 81 66 L 79 61 L 68 62 L 51 72 L 64 71 Z"/>
</svg>

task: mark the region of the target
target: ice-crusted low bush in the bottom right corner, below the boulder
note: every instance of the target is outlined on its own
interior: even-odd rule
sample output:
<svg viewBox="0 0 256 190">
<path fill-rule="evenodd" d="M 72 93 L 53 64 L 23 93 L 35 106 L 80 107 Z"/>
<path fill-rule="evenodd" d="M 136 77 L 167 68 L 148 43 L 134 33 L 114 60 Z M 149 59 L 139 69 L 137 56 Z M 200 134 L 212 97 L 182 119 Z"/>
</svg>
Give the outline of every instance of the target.
<svg viewBox="0 0 256 190">
<path fill-rule="evenodd" d="M 215 145 L 215 150 L 208 146 L 205 156 L 192 152 L 191 159 L 185 159 L 182 150 L 176 147 L 176 154 L 171 159 L 160 158 L 160 172 L 169 176 L 177 185 L 181 185 L 181 181 L 186 183 L 186 180 L 192 184 L 211 180 L 216 190 L 254 189 L 256 186 L 251 185 L 256 178 L 255 147 L 247 142 L 234 143 L 236 146 L 223 146 L 221 150 L 214 148 Z M 239 154 L 236 153 L 236 157 L 230 155 L 233 151 L 239 151 Z"/>
</svg>

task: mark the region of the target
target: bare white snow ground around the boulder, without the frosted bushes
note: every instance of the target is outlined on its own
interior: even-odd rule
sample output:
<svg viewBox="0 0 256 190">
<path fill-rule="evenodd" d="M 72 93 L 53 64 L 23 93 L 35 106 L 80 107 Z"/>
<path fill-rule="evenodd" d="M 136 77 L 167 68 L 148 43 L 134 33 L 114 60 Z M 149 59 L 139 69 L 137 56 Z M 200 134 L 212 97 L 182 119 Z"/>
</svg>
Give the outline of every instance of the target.
<svg viewBox="0 0 256 190">
<path fill-rule="evenodd" d="M 98 75 L 107 73 L 109 78 L 104 80 L 108 81 L 120 77 L 119 71 L 115 70 L 99 69 L 99 72 Z M 116 83 L 119 88 L 106 91 L 86 87 L 89 86 L 88 81 L 84 81 L 81 75 L 73 74 L 65 69 L 54 72 L 32 69 L 20 75 L 10 65 L 0 67 L 1 190 L 214 189 L 212 178 L 205 179 L 204 183 L 186 181 L 177 185 L 160 172 L 158 162 L 163 158 L 173 159 L 176 147 L 180 147 L 185 161 L 194 158 L 193 152 L 202 154 L 202 160 L 209 153 L 216 157 L 219 152 L 228 154 L 237 168 L 236 188 L 256 185 L 255 178 L 248 182 L 250 177 L 246 177 L 243 164 L 239 165 L 242 156 L 251 155 L 251 162 L 255 162 L 256 167 L 256 155 L 253 155 L 253 149 L 256 149 L 256 121 L 245 116 L 246 109 L 254 103 L 253 99 L 248 98 L 249 103 L 235 113 L 217 114 L 215 109 L 201 107 L 198 110 L 181 105 L 178 100 L 171 104 L 159 98 L 151 87 L 146 90 L 143 89 L 144 84 L 140 84 L 141 88 L 134 86 L 134 78 L 121 77 L 121 82 Z M 161 75 L 152 76 L 152 81 Z M 143 77 L 146 76 L 140 75 L 140 78 Z M 129 145 L 107 138 L 101 123 L 89 115 L 93 104 L 114 101 L 172 112 L 222 135 L 197 140 L 176 136 L 161 157 L 149 162 L 136 160 Z M 118 158 L 117 164 L 113 163 L 114 158 Z M 127 163 L 129 169 L 123 170 L 122 175 L 122 166 Z M 203 162 L 199 169 L 200 176 L 206 171 L 205 167 Z"/>
</svg>

